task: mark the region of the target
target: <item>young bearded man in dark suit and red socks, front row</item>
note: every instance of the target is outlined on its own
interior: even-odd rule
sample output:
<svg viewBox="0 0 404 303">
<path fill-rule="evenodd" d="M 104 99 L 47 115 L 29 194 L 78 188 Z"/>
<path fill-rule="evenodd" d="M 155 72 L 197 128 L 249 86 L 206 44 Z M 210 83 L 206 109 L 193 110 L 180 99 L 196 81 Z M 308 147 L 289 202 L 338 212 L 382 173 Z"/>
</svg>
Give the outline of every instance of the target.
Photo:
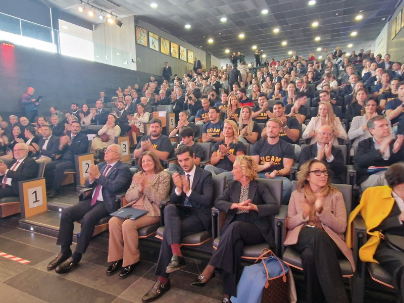
<svg viewBox="0 0 404 303">
<path fill-rule="evenodd" d="M 176 155 L 184 174 L 173 174 L 175 187 L 170 196 L 171 204 L 164 209 L 165 230 L 156 268 L 159 278 L 143 296 L 143 302 L 162 296 L 170 289 L 169 273 L 185 266 L 180 249 L 181 237 L 209 230 L 211 227 L 212 174 L 193 164 L 191 146 L 181 145 Z"/>
</svg>

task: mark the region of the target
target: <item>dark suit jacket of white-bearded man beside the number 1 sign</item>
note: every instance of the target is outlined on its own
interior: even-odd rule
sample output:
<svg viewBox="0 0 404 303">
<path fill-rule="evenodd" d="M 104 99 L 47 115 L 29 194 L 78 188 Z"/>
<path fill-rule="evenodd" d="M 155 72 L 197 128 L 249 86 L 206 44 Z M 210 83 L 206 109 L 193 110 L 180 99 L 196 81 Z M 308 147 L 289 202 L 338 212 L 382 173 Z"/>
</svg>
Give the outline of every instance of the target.
<svg viewBox="0 0 404 303">
<path fill-rule="evenodd" d="M 17 160 L 13 160 L 7 167 L 9 171 L 6 174 L 7 178 L 11 178 L 11 187 L 13 188 L 15 194 L 19 196 L 18 191 L 18 181 L 24 181 L 33 179 L 36 177 L 38 173 L 38 164 L 34 159 L 30 157 L 26 157 L 24 161 L 20 164 L 16 171 L 12 171 L 11 167 L 17 162 Z M 4 175 L 1 177 L 1 182 L 3 182 Z M 2 190 L 2 189 L 0 189 Z"/>
</svg>

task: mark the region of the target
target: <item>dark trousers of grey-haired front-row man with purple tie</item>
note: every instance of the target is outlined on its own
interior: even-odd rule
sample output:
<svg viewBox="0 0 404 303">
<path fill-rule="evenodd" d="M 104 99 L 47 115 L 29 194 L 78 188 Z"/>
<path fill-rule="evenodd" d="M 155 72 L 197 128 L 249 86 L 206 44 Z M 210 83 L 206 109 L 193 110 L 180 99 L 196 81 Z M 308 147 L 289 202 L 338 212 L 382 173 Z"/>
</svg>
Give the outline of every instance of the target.
<svg viewBox="0 0 404 303">
<path fill-rule="evenodd" d="M 94 233 L 95 224 L 110 215 L 103 201 L 96 201 L 91 206 L 91 200 L 80 201 L 78 204 L 64 209 L 60 218 L 58 245 L 71 245 L 73 241 L 74 222 L 83 219 L 80 236 L 77 240 L 76 252 L 84 254 Z"/>
</svg>

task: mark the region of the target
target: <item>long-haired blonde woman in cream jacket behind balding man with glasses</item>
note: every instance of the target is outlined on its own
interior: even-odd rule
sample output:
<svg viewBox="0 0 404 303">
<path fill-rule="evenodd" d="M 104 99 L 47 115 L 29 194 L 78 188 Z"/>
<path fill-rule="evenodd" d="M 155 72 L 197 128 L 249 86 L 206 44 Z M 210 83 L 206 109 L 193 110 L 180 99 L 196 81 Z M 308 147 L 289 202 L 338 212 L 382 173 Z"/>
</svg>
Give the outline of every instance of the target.
<svg viewBox="0 0 404 303">
<path fill-rule="evenodd" d="M 346 134 L 345 129 L 343 128 L 341 121 L 339 118 L 335 116 L 334 111 L 332 110 L 331 103 L 329 102 L 320 102 L 319 103 L 319 114 L 317 117 L 313 117 L 309 124 L 307 125 L 305 131 L 302 134 L 302 138 L 310 139 L 310 144 L 314 144 L 317 142 L 317 134 L 316 130 L 320 128 L 322 125 L 328 125 L 332 128 L 332 140 L 331 143 L 333 145 L 338 145 L 338 138 L 346 139 L 348 135 Z"/>
</svg>

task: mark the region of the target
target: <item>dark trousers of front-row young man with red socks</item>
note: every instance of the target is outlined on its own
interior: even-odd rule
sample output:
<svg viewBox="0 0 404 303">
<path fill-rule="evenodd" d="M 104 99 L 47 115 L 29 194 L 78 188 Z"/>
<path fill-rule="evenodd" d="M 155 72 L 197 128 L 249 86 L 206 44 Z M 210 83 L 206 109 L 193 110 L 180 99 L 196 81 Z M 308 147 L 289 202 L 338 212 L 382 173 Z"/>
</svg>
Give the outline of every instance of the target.
<svg viewBox="0 0 404 303">
<path fill-rule="evenodd" d="M 170 244 L 180 243 L 181 237 L 206 230 L 196 215 L 197 210 L 169 204 L 164 208 L 164 234 L 161 243 L 156 275 L 167 278 L 166 267 L 170 263 L 173 252 Z"/>
</svg>

